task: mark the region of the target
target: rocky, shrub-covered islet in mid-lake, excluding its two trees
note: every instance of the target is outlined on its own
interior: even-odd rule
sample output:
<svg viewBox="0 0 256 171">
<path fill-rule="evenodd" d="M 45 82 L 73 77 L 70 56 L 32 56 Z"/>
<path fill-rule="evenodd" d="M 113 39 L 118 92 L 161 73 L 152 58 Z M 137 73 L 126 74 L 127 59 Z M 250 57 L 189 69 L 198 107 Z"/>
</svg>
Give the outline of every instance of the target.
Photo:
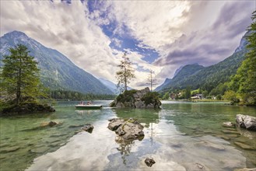
<svg viewBox="0 0 256 171">
<path fill-rule="evenodd" d="M 141 90 L 127 90 L 117 96 L 117 98 L 112 103 L 110 103 L 110 107 L 160 109 L 162 103 L 160 102 L 160 99 L 157 95 L 157 92 L 150 92 L 148 87 Z"/>
</svg>

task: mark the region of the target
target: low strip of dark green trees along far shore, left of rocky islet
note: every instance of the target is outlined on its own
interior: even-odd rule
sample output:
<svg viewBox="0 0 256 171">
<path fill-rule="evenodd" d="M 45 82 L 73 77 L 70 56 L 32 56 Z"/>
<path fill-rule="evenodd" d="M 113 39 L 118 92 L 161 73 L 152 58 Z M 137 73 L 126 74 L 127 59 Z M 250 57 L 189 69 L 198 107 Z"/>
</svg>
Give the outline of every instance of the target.
<svg viewBox="0 0 256 171">
<path fill-rule="evenodd" d="M 114 99 L 114 95 L 102 94 L 83 94 L 81 92 L 73 92 L 68 90 L 52 90 L 51 98 L 57 100 L 92 100 L 92 99 Z"/>
</svg>

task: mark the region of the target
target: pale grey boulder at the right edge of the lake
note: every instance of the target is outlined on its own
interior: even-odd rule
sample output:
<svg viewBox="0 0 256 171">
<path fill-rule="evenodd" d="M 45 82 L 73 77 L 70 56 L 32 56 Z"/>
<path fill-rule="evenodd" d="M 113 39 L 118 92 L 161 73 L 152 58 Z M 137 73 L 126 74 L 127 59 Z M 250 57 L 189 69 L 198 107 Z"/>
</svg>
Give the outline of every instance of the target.
<svg viewBox="0 0 256 171">
<path fill-rule="evenodd" d="M 246 128 L 247 130 L 256 131 L 256 117 L 237 114 L 237 124 L 239 127 Z"/>
</svg>

